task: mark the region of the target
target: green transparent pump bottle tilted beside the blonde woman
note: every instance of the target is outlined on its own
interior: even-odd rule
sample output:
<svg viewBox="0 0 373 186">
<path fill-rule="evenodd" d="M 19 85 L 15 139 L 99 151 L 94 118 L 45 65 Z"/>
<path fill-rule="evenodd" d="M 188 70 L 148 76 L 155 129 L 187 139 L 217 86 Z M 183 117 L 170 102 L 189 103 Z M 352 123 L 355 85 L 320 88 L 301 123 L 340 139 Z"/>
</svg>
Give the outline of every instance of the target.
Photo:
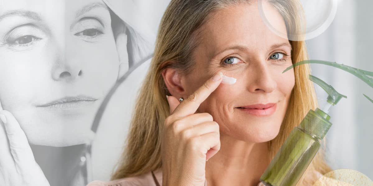
<svg viewBox="0 0 373 186">
<path fill-rule="evenodd" d="M 309 79 L 329 94 L 327 104 L 323 110 L 310 109 L 302 122 L 291 131 L 260 177 L 260 181 L 266 186 L 297 184 L 319 150 L 321 140 L 332 126 L 329 122 L 330 116 L 327 114 L 330 106 L 337 104 L 342 97 L 347 98 L 321 79 L 312 75 L 309 75 Z"/>
</svg>

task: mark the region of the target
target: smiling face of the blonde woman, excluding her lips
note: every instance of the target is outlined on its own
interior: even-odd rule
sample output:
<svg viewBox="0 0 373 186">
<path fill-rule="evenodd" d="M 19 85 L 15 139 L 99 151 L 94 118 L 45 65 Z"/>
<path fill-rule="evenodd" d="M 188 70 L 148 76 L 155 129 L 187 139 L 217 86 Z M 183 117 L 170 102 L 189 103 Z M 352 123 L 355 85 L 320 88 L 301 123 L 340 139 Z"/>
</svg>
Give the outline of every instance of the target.
<svg viewBox="0 0 373 186">
<path fill-rule="evenodd" d="M 271 22 L 286 31 L 276 9 L 269 4 L 265 7 Z M 267 28 L 255 3 L 242 3 L 213 13 L 200 31 L 200 44 L 193 53 L 195 68 L 184 80 L 188 91 L 185 95 L 218 71 L 236 78 L 233 85 L 220 84 L 198 112 L 210 113 L 219 123 L 220 132 L 233 138 L 251 142 L 275 138 L 295 83 L 292 70 L 282 74 L 292 64 L 289 41 Z M 275 103 L 276 110 L 266 116 L 238 108 L 267 103 Z"/>
</svg>

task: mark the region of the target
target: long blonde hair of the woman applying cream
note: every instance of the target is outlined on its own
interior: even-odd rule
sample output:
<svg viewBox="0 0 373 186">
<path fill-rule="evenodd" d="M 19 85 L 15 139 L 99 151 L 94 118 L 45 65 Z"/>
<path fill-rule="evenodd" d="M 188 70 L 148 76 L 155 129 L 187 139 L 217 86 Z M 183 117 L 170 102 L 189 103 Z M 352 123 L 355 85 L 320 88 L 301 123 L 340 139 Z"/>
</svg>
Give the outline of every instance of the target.
<svg viewBox="0 0 373 186">
<path fill-rule="evenodd" d="M 251 0 L 172 0 L 163 15 L 156 41 L 154 57 L 150 69 L 140 89 L 134 115 L 130 125 L 127 143 L 112 174 L 113 179 L 139 176 L 162 167 L 161 132 L 163 123 L 169 116 L 169 105 L 166 95 L 169 91 L 162 78 L 162 71 L 173 68 L 180 73 L 192 70 L 193 60 L 189 58 L 194 47 L 198 44 L 198 28 L 208 21 L 211 13 L 224 7 L 237 5 L 241 2 L 250 3 Z M 303 32 L 300 28 L 302 15 L 298 12 L 298 0 L 268 0 L 278 9 L 284 18 L 288 31 Z M 282 1 L 282 2 L 280 2 Z M 292 62 L 308 59 L 304 41 L 289 41 L 292 45 Z M 317 98 L 313 83 L 308 80 L 309 65 L 294 68 L 295 85 L 292 90 L 288 109 L 278 136 L 268 143 L 270 160 L 274 157 L 291 130 L 297 126 L 310 109 L 315 109 Z M 330 168 L 324 161 L 323 149 L 320 149 L 314 160 L 306 170 L 304 185 L 316 182 L 319 172 L 325 174 Z"/>
</svg>

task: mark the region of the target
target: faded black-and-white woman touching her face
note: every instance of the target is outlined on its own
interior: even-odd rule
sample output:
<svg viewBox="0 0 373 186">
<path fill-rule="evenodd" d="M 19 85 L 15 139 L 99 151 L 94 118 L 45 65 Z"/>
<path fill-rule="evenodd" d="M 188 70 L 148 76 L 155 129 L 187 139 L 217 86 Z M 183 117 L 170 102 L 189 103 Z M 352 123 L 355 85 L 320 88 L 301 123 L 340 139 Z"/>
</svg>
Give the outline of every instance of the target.
<svg viewBox="0 0 373 186">
<path fill-rule="evenodd" d="M 0 185 L 84 184 L 98 107 L 148 55 L 107 4 L 0 0 Z"/>
</svg>

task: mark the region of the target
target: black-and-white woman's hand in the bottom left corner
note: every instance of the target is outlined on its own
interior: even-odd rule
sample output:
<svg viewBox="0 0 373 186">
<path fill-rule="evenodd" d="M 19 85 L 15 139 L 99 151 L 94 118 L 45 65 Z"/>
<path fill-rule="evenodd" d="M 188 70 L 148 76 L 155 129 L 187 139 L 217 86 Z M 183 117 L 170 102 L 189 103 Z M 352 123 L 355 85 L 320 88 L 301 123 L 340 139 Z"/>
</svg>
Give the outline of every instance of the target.
<svg viewBox="0 0 373 186">
<path fill-rule="evenodd" d="M 0 103 L 0 185 L 49 186 L 19 123 Z"/>
</svg>

